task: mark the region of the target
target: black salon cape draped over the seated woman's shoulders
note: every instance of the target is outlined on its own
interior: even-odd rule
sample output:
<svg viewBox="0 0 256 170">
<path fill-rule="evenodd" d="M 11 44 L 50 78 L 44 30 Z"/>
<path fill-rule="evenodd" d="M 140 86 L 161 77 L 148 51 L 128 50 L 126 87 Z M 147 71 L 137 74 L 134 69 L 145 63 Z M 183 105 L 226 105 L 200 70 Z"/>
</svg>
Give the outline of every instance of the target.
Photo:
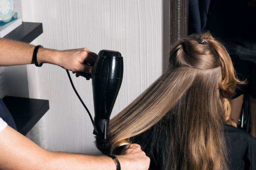
<svg viewBox="0 0 256 170">
<path fill-rule="evenodd" d="M 140 144 L 147 155 L 153 148 L 154 159 L 151 158 L 149 170 L 164 170 L 164 166 L 161 165 L 161 157 L 168 155 L 161 155 L 160 149 L 157 152 L 154 146 L 151 146 L 151 132 L 152 128 L 133 137 L 132 142 Z M 224 134 L 228 147 L 230 170 L 256 170 L 256 138 L 244 130 L 226 124 L 224 125 Z M 164 140 L 161 140 L 164 143 Z"/>
</svg>

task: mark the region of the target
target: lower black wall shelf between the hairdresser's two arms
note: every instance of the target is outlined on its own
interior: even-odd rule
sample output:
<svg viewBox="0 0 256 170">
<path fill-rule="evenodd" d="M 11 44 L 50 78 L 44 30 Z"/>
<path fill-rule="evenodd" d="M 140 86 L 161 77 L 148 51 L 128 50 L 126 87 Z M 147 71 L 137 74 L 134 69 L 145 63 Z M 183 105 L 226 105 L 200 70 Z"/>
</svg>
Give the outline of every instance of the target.
<svg viewBox="0 0 256 170">
<path fill-rule="evenodd" d="M 3 102 L 22 135 L 26 135 L 49 110 L 49 100 L 5 96 Z"/>
</svg>

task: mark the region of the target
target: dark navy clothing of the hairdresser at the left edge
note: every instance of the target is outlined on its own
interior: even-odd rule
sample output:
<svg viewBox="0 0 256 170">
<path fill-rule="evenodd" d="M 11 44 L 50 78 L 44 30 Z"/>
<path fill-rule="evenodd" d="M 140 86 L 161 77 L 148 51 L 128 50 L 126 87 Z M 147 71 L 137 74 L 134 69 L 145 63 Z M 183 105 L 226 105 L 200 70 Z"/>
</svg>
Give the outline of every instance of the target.
<svg viewBox="0 0 256 170">
<path fill-rule="evenodd" d="M 8 126 L 17 130 L 13 117 L 1 98 L 0 98 L 0 117 L 7 123 Z"/>
</svg>

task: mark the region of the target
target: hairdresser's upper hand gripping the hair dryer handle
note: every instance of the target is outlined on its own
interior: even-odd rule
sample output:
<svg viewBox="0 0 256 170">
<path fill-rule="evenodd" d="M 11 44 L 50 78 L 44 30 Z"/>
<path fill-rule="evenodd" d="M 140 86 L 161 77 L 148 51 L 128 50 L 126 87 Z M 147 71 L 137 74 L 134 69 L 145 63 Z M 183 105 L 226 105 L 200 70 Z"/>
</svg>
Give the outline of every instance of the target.
<svg viewBox="0 0 256 170">
<path fill-rule="evenodd" d="M 57 52 L 54 64 L 73 72 L 80 71 L 92 73 L 92 68 L 96 58 L 97 54 L 91 52 L 87 48 L 61 50 Z"/>
</svg>

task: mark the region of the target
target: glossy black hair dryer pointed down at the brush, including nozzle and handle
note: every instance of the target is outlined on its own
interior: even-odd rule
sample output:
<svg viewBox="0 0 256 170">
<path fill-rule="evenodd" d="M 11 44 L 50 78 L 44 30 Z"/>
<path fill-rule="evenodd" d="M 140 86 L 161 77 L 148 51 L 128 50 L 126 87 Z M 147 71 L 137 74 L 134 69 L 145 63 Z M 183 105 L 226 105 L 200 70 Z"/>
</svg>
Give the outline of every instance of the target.
<svg viewBox="0 0 256 170">
<path fill-rule="evenodd" d="M 92 75 L 78 73 L 87 80 L 92 78 L 95 112 L 93 134 L 106 139 L 110 115 L 123 80 L 123 57 L 118 51 L 101 50 Z"/>
</svg>

